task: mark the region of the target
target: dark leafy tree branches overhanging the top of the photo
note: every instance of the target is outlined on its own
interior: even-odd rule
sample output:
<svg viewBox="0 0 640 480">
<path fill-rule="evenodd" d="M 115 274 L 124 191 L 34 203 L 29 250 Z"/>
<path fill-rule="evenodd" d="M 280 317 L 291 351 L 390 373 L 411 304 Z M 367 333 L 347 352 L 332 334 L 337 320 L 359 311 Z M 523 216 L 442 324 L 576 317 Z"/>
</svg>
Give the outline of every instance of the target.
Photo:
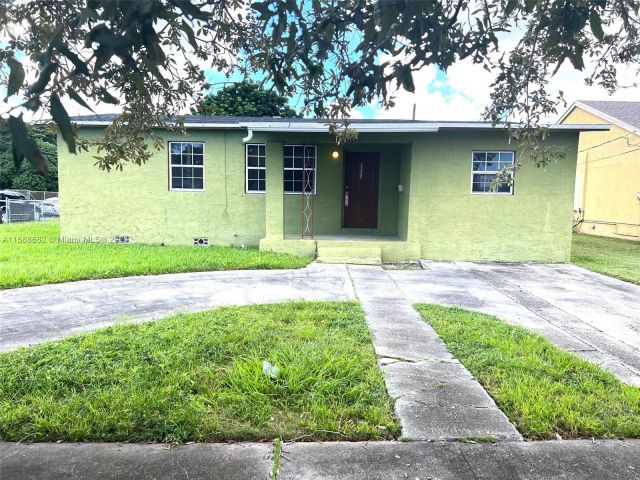
<svg viewBox="0 0 640 480">
<path fill-rule="evenodd" d="M 340 117 L 372 101 L 389 105 L 395 84 L 463 59 L 495 73 L 486 117 L 519 121 L 518 141 L 537 140 L 561 95 L 549 80 L 568 62 L 587 83 L 614 91 L 618 69 L 640 58 L 640 0 L 0 0 L 0 75 L 23 107 L 48 112 L 71 151 L 78 143 L 61 98 L 121 105 L 96 142 L 101 168 L 141 163 L 154 128 L 180 128 L 175 115 L 204 83 L 203 67 L 258 73 L 281 95 L 300 95 L 304 113 Z M 18 28 L 19 27 L 19 28 Z M 504 48 L 504 36 L 516 39 Z M 502 49 L 502 50 L 501 50 Z M 37 62 L 25 72 L 19 53 Z M 8 74 L 6 73 L 8 72 Z M 44 162 L 24 122 L 6 119 L 17 157 Z M 170 121 L 173 118 L 175 121 Z M 153 142 L 152 142 L 153 143 Z"/>
</svg>

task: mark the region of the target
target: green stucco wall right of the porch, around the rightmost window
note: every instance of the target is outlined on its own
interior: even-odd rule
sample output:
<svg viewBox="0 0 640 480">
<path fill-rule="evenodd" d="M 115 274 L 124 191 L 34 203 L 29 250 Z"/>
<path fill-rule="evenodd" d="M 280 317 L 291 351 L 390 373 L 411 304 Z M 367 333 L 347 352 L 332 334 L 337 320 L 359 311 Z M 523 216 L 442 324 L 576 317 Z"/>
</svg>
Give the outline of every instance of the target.
<svg viewBox="0 0 640 480">
<path fill-rule="evenodd" d="M 471 194 L 471 156 L 516 150 L 504 134 L 416 139 L 408 239 L 421 243 L 423 258 L 569 261 L 578 134 L 554 132 L 549 144 L 563 148 L 566 158 L 546 168 L 525 159 L 514 195 L 495 195 Z"/>
</svg>

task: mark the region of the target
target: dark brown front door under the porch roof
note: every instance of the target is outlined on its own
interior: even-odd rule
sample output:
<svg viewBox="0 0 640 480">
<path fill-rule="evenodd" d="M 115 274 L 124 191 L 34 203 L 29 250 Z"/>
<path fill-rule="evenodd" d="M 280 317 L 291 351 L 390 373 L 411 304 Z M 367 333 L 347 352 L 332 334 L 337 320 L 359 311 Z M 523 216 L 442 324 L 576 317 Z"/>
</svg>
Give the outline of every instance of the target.
<svg viewBox="0 0 640 480">
<path fill-rule="evenodd" d="M 378 227 L 380 155 L 347 152 L 344 161 L 343 227 Z"/>
</svg>

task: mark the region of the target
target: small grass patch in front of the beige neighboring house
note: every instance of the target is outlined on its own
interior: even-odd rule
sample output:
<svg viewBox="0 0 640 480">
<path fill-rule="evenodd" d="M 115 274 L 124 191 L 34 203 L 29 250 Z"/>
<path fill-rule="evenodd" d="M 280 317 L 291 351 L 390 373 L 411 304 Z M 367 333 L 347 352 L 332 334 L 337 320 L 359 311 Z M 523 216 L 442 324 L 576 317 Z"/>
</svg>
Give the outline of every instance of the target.
<svg viewBox="0 0 640 480">
<path fill-rule="evenodd" d="M 640 285 L 640 242 L 574 234 L 571 262 Z"/>
</svg>

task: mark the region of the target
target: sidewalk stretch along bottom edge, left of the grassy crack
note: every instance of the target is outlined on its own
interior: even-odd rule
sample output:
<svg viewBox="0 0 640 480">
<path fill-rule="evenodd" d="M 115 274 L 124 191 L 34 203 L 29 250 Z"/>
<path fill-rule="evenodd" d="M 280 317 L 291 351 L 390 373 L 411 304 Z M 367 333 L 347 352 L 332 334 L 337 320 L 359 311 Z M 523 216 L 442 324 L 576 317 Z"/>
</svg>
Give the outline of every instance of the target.
<svg viewBox="0 0 640 480">
<path fill-rule="evenodd" d="M 3 480 L 265 480 L 269 443 L 178 447 L 117 443 L 0 443 Z"/>
</svg>

